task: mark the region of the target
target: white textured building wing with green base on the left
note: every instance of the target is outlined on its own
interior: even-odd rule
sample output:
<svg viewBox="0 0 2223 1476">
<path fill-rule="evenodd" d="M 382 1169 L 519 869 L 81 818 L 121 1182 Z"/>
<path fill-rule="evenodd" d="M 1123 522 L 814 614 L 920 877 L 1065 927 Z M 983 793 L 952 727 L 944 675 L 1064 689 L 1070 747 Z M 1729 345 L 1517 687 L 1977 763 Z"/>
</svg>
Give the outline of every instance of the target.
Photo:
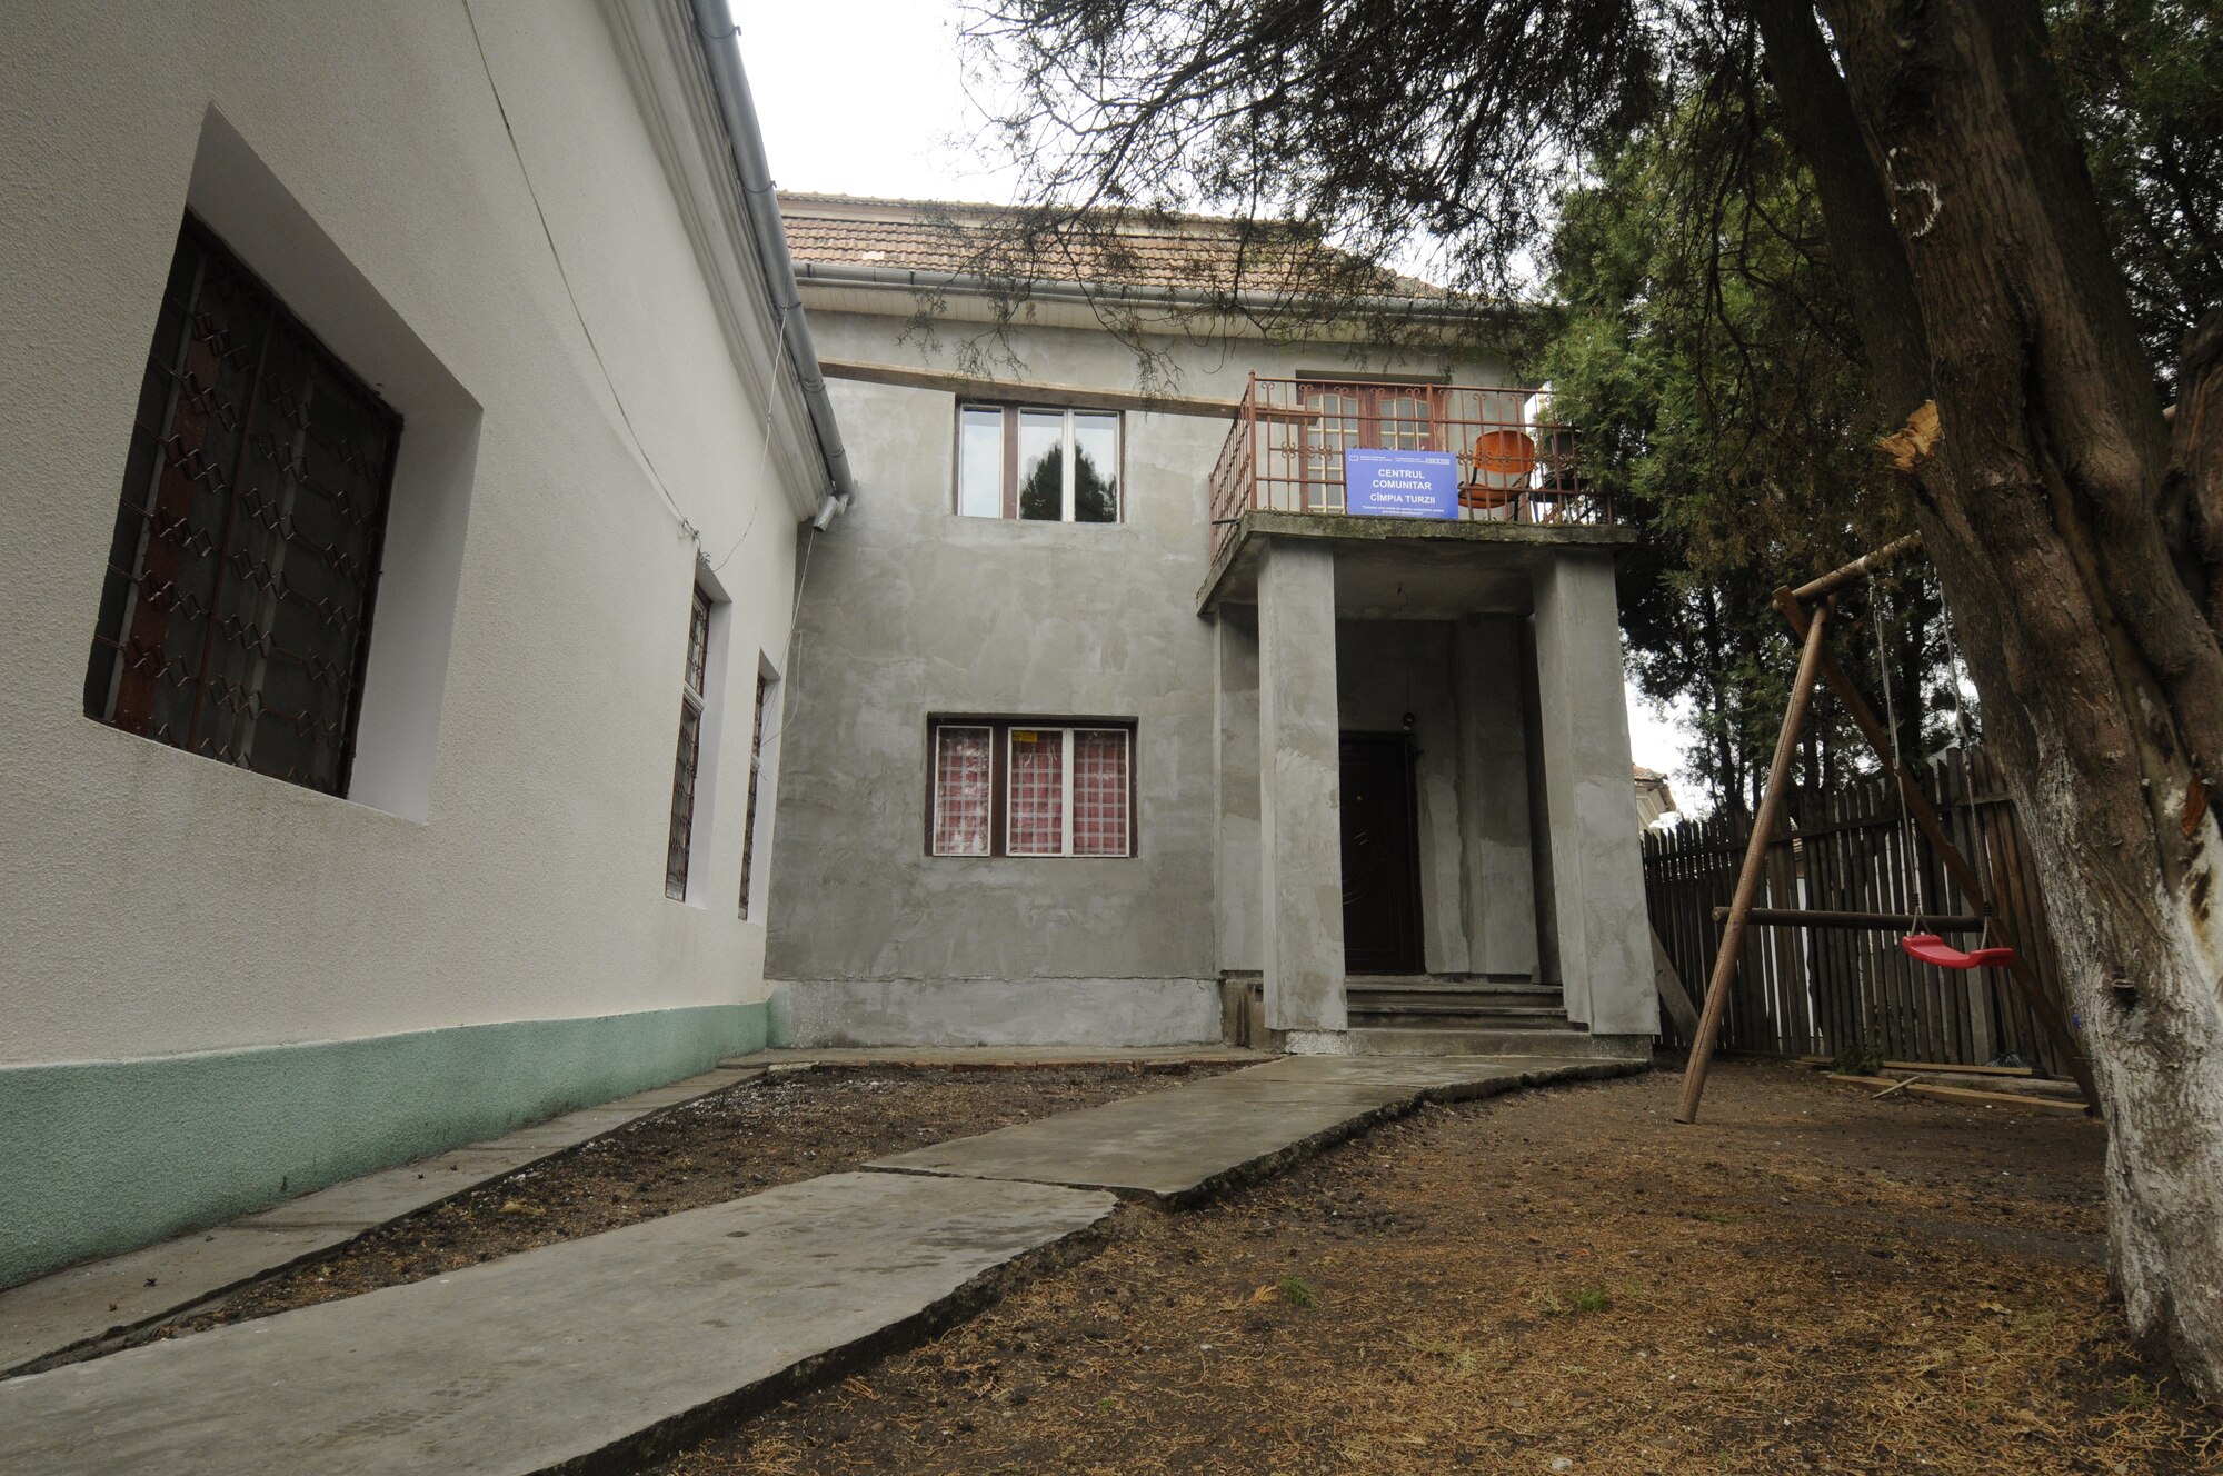
<svg viewBox="0 0 2223 1476">
<path fill-rule="evenodd" d="M 765 1040 L 829 465 L 720 44 L 11 16 L 0 1285 Z"/>
</svg>

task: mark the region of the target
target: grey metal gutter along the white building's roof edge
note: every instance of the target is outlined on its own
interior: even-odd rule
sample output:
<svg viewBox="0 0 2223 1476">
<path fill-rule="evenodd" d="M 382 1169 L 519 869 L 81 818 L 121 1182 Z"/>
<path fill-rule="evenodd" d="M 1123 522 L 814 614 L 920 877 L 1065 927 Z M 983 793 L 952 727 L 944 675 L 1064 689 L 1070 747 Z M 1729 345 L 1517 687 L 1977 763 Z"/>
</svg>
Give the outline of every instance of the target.
<svg viewBox="0 0 2223 1476">
<path fill-rule="evenodd" d="M 740 202 L 749 216 L 749 229 L 756 233 L 756 256 L 765 267 L 765 289 L 780 313 L 780 340 L 787 345 L 787 358 L 796 367 L 803 405 L 809 409 L 811 431 L 818 436 L 818 453 L 825 458 L 827 478 L 831 480 L 831 487 L 818 502 L 818 516 L 811 518 L 811 527 L 825 529 L 838 513 L 849 511 L 849 500 L 856 498 L 849 451 L 840 442 L 834 402 L 827 400 L 827 378 L 818 369 L 818 345 L 811 340 L 809 318 L 803 316 L 803 293 L 796 289 L 796 260 L 787 253 L 787 227 L 780 222 L 780 202 L 771 189 L 771 164 L 765 160 L 765 136 L 756 127 L 749 76 L 740 69 L 740 29 L 734 24 L 725 0 L 694 0 L 694 11 L 702 60 L 709 62 L 718 111 L 725 113 L 725 136 L 734 142 L 734 167 L 740 171 Z"/>
</svg>

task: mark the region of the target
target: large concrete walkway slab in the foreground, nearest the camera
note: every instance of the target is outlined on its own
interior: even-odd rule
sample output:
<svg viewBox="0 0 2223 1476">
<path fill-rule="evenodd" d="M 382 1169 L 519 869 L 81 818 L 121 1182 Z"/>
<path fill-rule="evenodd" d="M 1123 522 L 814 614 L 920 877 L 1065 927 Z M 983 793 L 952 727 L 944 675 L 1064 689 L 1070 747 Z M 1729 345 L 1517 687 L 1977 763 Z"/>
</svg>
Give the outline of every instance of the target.
<svg viewBox="0 0 2223 1476">
<path fill-rule="evenodd" d="M 4 1383 L 0 1469 L 545 1472 L 943 1309 L 1112 1207 L 831 1174 Z"/>
</svg>

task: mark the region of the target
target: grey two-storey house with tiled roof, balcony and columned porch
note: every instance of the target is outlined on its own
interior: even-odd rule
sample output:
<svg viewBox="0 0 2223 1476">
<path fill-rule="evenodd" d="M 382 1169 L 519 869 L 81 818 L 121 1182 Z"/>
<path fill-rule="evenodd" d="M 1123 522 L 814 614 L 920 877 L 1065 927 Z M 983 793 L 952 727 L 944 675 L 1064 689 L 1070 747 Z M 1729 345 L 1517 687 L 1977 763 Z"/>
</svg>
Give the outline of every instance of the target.
<svg viewBox="0 0 2223 1476">
<path fill-rule="evenodd" d="M 987 211 L 782 205 L 869 496 L 798 605 L 780 1040 L 1647 1049 L 1629 533 L 1547 398 L 1200 320 L 1225 225 L 1014 285 Z M 1385 451 L 1447 516 L 1354 513 Z"/>
</svg>

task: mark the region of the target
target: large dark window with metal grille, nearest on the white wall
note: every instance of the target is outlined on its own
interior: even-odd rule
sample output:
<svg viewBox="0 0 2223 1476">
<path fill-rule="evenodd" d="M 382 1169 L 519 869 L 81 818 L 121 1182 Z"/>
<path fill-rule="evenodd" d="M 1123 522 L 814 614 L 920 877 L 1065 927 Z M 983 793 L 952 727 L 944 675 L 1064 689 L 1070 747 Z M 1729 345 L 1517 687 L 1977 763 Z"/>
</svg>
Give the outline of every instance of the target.
<svg viewBox="0 0 2223 1476">
<path fill-rule="evenodd" d="M 87 716 L 345 794 L 400 429 L 189 216 L 131 425 Z"/>
</svg>

